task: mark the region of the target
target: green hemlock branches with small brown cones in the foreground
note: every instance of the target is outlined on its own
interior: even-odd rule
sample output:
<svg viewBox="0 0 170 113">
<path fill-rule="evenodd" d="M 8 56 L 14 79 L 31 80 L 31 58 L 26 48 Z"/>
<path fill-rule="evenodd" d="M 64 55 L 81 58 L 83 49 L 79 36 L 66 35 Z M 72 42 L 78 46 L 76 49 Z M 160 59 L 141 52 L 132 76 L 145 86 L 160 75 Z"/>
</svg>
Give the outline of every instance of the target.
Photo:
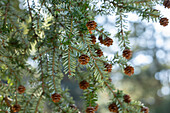
<svg viewBox="0 0 170 113">
<path fill-rule="evenodd" d="M 108 111 L 148 113 L 114 87 L 111 74 L 118 64 L 133 79 L 127 13 L 166 27 L 168 19 L 154 9 L 157 4 L 170 8 L 169 0 L 24 0 L 20 9 L 19 0 L 0 0 L 0 112 L 43 113 L 49 106 L 50 113 L 95 113 L 102 107 L 98 92 L 107 89 Z M 116 15 L 115 36 L 98 25 L 97 15 Z M 108 59 L 102 46 L 115 50 L 115 40 L 120 49 Z M 61 87 L 64 75 L 78 81 L 83 110 Z"/>
</svg>

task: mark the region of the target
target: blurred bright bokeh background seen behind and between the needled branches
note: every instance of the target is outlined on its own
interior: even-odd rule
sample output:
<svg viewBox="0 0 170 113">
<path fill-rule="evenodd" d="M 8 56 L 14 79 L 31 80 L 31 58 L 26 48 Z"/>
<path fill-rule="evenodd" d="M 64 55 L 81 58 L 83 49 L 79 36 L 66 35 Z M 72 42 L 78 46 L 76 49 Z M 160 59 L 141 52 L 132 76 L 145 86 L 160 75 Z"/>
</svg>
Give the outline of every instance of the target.
<svg viewBox="0 0 170 113">
<path fill-rule="evenodd" d="M 23 9 L 23 0 L 12 2 L 18 10 Z M 163 5 L 158 5 L 155 9 L 160 10 L 164 17 L 170 19 L 170 9 L 165 9 Z M 150 113 L 170 113 L 170 25 L 162 27 L 159 22 L 141 21 L 135 13 L 127 15 L 129 20 L 127 26 L 131 30 L 129 40 L 133 51 L 133 57 L 128 63 L 135 67 L 135 74 L 128 77 L 123 74 L 118 65 L 114 65 L 111 73 L 112 83 L 116 88 L 131 95 L 132 99 L 142 101 L 150 108 Z M 114 40 L 112 46 L 102 46 L 104 55 L 109 56 L 108 59 L 113 58 L 114 53 L 120 51 L 118 40 L 114 38 L 117 32 L 115 19 L 115 15 L 98 15 L 95 18 L 98 26 L 103 25 L 105 30 L 111 33 L 110 38 Z M 36 65 L 31 59 L 29 63 Z M 62 84 L 63 88 L 70 89 L 78 108 L 84 108 L 83 99 L 80 98 L 82 91 L 78 83 L 65 76 Z M 108 100 L 107 93 L 99 92 L 97 113 L 109 113 Z"/>
</svg>

